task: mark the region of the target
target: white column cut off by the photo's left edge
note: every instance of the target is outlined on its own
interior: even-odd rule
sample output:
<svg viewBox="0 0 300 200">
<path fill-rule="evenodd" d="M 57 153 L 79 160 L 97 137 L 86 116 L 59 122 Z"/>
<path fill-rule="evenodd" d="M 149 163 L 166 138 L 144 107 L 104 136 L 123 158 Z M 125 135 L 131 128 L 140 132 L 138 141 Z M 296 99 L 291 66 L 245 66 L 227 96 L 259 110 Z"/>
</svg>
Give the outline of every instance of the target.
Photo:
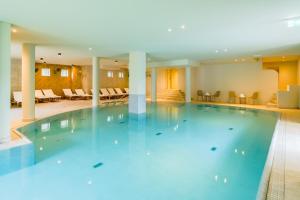
<svg viewBox="0 0 300 200">
<path fill-rule="evenodd" d="M 10 24 L 0 22 L 0 144 L 10 141 Z"/>
</svg>

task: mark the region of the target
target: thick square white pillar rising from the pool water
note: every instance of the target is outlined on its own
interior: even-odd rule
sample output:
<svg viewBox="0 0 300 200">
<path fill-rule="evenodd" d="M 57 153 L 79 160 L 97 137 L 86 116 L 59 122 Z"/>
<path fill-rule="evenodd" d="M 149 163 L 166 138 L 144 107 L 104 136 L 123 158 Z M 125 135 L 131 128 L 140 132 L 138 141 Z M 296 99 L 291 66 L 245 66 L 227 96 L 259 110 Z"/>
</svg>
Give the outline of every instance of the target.
<svg viewBox="0 0 300 200">
<path fill-rule="evenodd" d="M 129 113 L 146 112 L 146 53 L 129 53 Z"/>
</svg>

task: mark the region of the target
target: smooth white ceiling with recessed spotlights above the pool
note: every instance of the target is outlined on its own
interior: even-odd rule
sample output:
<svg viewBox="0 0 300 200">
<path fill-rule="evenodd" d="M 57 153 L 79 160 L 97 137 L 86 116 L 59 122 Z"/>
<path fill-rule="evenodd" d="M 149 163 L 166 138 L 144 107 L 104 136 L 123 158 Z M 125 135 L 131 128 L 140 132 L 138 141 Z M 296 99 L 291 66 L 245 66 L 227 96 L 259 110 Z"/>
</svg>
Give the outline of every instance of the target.
<svg viewBox="0 0 300 200">
<path fill-rule="evenodd" d="M 126 59 L 135 50 L 151 60 L 202 61 L 299 54 L 300 27 L 286 23 L 299 8 L 299 0 L 1 0 L 0 21 L 17 29 L 14 57 L 32 42 L 37 60 L 49 63 Z"/>
</svg>

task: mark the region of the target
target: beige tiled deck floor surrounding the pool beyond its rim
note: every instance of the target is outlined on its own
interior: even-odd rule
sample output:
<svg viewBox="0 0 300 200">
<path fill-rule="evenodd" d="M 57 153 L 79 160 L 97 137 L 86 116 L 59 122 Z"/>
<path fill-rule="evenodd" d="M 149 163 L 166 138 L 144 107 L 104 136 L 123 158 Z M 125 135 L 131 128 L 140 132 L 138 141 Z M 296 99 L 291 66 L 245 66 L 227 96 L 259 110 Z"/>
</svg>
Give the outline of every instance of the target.
<svg viewBox="0 0 300 200">
<path fill-rule="evenodd" d="M 271 110 L 281 113 L 267 199 L 300 199 L 300 110 L 278 109 L 261 105 L 217 104 Z M 36 106 L 36 118 L 41 119 L 90 106 L 90 100 L 38 104 Z M 21 121 L 21 116 L 21 108 L 12 109 L 11 123 L 13 128 L 25 125 Z M 12 139 L 13 142 L 10 145 L 22 143 L 20 137 L 14 133 L 12 133 Z M 7 145 L 0 145 L 0 149 L 6 147 Z"/>
</svg>

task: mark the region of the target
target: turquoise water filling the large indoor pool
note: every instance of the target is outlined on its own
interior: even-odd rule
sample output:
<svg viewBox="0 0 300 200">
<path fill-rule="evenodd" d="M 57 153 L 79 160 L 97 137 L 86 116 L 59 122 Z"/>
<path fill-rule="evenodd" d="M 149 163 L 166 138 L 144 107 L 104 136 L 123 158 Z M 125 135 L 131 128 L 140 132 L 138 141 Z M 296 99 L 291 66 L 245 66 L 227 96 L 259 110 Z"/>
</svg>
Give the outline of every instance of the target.
<svg viewBox="0 0 300 200">
<path fill-rule="evenodd" d="M 60 114 L 20 128 L 36 164 L 0 176 L 3 200 L 253 200 L 277 114 L 148 104 Z"/>
</svg>

